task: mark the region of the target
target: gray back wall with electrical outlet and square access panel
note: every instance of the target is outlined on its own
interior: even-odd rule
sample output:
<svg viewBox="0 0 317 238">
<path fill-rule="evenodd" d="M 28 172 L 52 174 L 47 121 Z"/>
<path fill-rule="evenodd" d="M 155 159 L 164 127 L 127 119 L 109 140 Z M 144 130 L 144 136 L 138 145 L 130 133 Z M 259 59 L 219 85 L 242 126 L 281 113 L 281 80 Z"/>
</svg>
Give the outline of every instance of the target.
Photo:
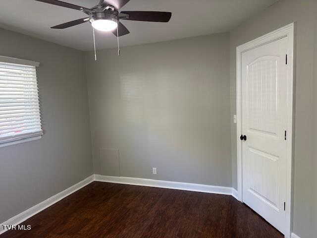
<svg viewBox="0 0 317 238">
<path fill-rule="evenodd" d="M 224 33 L 87 53 L 95 174 L 231 187 L 228 46 Z"/>
</svg>

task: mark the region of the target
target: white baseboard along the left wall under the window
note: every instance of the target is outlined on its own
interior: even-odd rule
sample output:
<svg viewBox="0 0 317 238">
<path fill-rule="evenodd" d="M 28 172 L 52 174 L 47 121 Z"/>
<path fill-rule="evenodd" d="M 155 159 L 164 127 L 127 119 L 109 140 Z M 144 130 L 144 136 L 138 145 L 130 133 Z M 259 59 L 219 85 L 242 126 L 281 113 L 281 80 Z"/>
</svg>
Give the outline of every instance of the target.
<svg viewBox="0 0 317 238">
<path fill-rule="evenodd" d="M 0 224 L 0 234 L 6 232 L 7 230 L 3 229 L 3 225 L 18 225 L 21 222 L 24 222 L 25 220 L 29 219 L 30 217 L 34 216 L 35 214 L 43 211 L 44 209 L 48 208 L 49 206 L 52 206 L 54 203 L 60 201 L 61 199 L 67 197 L 68 195 L 72 194 L 73 192 L 79 190 L 80 188 L 86 186 L 87 184 L 94 181 L 94 176 L 89 176 L 87 179 L 84 179 L 75 185 L 57 193 L 56 195 L 53 195 L 52 197 L 46 199 L 45 201 L 29 208 L 28 210 L 21 212 L 20 214 L 10 218 L 9 220 L 3 222 Z"/>
</svg>

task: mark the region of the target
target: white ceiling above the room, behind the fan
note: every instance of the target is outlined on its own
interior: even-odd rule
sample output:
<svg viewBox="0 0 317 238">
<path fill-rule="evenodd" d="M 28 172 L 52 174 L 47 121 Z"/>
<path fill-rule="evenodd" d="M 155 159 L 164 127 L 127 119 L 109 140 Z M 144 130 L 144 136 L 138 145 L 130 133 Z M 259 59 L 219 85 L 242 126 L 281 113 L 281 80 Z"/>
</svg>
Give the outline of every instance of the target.
<svg viewBox="0 0 317 238">
<path fill-rule="evenodd" d="M 92 7 L 99 0 L 63 0 Z M 131 0 L 121 10 L 171 11 L 169 23 L 124 21 L 130 34 L 121 46 L 139 45 L 226 32 L 278 0 Z M 51 26 L 83 18 L 84 13 L 35 0 L 1 0 L 0 27 L 71 48 L 93 50 L 90 23 L 64 30 Z M 98 49 L 116 47 L 112 33 L 98 32 Z"/>
</svg>

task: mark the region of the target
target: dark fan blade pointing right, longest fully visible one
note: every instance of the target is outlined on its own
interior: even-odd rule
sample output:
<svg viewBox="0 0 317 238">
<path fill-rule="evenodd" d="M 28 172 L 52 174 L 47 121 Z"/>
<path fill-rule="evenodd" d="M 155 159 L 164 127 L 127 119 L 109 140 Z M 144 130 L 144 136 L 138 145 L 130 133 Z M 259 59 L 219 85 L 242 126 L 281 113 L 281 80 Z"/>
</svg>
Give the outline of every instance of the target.
<svg viewBox="0 0 317 238">
<path fill-rule="evenodd" d="M 122 20 L 131 21 L 169 22 L 172 17 L 171 12 L 165 11 L 121 11 L 121 13 L 129 14 L 129 18 Z"/>
</svg>

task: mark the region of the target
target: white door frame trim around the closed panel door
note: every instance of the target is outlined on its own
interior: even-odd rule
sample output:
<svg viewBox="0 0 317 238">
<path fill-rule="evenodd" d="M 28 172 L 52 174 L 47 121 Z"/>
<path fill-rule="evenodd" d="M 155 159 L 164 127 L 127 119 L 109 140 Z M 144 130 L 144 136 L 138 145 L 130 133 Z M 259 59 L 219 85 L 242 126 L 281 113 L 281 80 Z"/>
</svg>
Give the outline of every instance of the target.
<svg viewBox="0 0 317 238">
<path fill-rule="evenodd" d="M 291 235 L 291 203 L 292 203 L 292 141 L 293 141 L 293 71 L 294 71 L 294 23 L 279 28 L 262 37 L 237 47 L 237 176 L 238 176 L 238 200 L 243 202 L 242 197 L 242 115 L 241 115 L 241 59 L 242 53 L 267 44 L 272 41 L 287 37 L 287 168 L 286 168 L 286 229 L 285 237 Z"/>
</svg>

